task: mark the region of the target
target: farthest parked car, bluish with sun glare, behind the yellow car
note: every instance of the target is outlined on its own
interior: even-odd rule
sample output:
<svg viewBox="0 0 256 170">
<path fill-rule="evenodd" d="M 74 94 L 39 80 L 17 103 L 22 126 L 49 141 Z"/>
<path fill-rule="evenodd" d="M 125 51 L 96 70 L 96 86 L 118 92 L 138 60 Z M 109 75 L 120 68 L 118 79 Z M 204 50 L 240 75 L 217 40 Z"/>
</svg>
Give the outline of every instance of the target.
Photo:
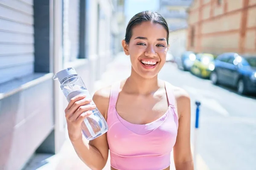
<svg viewBox="0 0 256 170">
<path fill-rule="evenodd" d="M 180 57 L 175 59 L 177 67 L 184 71 L 190 71 L 191 66 L 195 61 L 195 53 L 192 51 L 185 51 Z"/>
</svg>

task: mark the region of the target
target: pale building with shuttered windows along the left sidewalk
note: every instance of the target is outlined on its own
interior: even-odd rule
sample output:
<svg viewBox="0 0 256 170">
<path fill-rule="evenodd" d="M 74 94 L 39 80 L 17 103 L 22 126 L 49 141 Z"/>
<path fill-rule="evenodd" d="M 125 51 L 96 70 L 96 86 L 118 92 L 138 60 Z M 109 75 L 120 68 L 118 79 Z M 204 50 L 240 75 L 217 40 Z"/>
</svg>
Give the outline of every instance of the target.
<svg viewBox="0 0 256 170">
<path fill-rule="evenodd" d="M 1 170 L 20 170 L 35 153 L 58 153 L 67 100 L 52 77 L 73 67 L 93 90 L 119 48 L 114 3 L 0 1 Z"/>
</svg>

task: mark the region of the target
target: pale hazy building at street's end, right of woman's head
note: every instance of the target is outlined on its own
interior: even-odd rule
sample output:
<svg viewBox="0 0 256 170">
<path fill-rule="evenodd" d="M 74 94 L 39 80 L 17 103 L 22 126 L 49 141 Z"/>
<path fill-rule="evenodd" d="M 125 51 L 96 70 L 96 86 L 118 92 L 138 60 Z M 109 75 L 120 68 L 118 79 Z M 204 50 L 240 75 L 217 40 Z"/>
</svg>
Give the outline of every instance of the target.
<svg viewBox="0 0 256 170">
<path fill-rule="evenodd" d="M 169 52 L 174 57 L 186 51 L 187 12 L 193 0 L 160 0 L 159 12 L 169 26 Z"/>
</svg>

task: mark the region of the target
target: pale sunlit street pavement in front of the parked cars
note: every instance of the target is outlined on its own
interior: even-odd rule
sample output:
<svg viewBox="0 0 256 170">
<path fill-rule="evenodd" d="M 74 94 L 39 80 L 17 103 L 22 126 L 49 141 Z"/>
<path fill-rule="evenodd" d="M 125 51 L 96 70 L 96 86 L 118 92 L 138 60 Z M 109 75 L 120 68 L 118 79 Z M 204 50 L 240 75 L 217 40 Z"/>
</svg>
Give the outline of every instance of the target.
<svg viewBox="0 0 256 170">
<path fill-rule="evenodd" d="M 165 64 L 159 78 L 185 89 L 191 97 L 192 145 L 195 100 L 201 102 L 197 148 L 210 170 L 255 170 L 255 96 L 240 96 L 233 89 L 212 85 L 173 63 Z"/>
</svg>

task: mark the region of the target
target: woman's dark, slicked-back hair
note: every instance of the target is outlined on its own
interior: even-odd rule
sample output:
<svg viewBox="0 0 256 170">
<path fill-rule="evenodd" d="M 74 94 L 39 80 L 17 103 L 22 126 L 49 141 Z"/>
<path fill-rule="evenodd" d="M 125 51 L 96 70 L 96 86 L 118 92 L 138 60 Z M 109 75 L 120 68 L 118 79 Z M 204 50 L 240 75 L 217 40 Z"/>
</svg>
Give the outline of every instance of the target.
<svg viewBox="0 0 256 170">
<path fill-rule="evenodd" d="M 132 28 L 134 26 L 137 26 L 145 21 L 151 21 L 153 23 L 156 24 L 161 24 L 167 31 L 167 44 L 169 42 L 169 28 L 168 28 L 168 24 L 166 23 L 166 20 L 164 19 L 164 17 L 154 11 L 142 11 L 136 15 L 134 15 L 134 17 L 131 18 L 131 20 L 128 23 L 128 26 L 126 27 L 126 32 L 125 32 L 125 42 L 126 44 L 129 44 L 130 40 L 131 40 L 131 36 L 132 36 Z"/>
</svg>

